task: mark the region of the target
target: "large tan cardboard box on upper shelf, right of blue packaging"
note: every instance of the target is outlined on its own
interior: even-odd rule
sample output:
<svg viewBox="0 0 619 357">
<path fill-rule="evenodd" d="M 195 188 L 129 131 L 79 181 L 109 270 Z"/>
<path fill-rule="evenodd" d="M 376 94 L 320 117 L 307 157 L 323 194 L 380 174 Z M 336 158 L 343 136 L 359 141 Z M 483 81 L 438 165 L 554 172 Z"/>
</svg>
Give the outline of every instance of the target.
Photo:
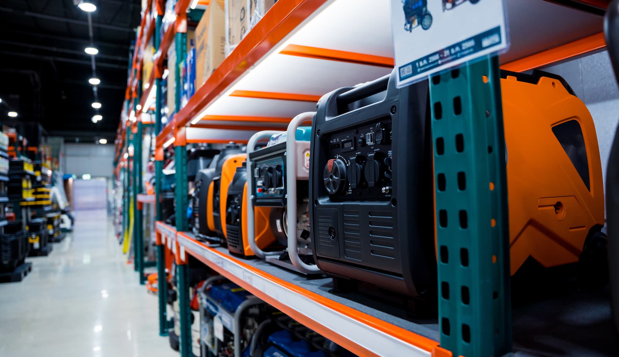
<svg viewBox="0 0 619 357">
<path fill-rule="evenodd" d="M 225 59 L 225 1 L 212 1 L 196 27 L 196 90 Z"/>
</svg>

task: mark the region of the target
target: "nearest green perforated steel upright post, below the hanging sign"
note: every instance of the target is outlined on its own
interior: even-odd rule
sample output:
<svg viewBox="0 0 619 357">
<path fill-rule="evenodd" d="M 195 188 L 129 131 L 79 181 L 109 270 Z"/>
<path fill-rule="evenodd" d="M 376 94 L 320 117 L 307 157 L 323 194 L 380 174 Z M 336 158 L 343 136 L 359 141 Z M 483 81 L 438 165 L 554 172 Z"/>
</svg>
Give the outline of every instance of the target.
<svg viewBox="0 0 619 357">
<path fill-rule="evenodd" d="M 441 347 L 503 356 L 512 338 L 498 56 L 433 76 L 430 100 Z"/>
</svg>

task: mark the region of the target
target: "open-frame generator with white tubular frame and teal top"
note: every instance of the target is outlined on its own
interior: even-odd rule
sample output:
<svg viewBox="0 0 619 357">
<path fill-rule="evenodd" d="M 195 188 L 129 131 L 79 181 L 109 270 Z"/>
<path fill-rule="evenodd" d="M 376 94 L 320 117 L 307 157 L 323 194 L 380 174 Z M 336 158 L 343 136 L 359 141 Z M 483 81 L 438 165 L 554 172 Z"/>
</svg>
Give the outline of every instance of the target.
<svg viewBox="0 0 619 357">
<path fill-rule="evenodd" d="M 251 226 L 256 218 L 251 215 L 252 207 L 270 207 L 267 221 L 275 238 L 284 247 L 284 252 L 264 252 L 249 235 L 249 247 L 267 262 L 305 274 L 320 273 L 313 264 L 309 234 L 309 141 L 311 128 L 299 127 L 311 121 L 314 112 L 295 117 L 285 132 L 260 131 L 249 140 L 248 148 L 254 143 L 271 136 L 267 146 L 256 151 L 248 150 L 248 221 Z M 288 139 L 292 138 L 292 139 Z M 288 167 L 295 169 L 288 170 Z M 261 221 L 261 218 L 258 218 Z M 294 229 L 288 234 L 288 227 Z M 295 247 L 295 249 L 290 249 Z"/>
</svg>

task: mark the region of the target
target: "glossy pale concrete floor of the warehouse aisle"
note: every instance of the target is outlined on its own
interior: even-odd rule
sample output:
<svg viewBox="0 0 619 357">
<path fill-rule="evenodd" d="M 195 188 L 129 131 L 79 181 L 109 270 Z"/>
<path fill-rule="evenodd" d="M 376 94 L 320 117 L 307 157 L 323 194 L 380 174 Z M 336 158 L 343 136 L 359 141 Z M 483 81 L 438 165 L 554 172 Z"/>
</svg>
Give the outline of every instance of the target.
<svg viewBox="0 0 619 357">
<path fill-rule="evenodd" d="M 72 234 L 27 261 L 24 281 L 0 284 L 0 357 L 178 356 L 105 212 L 77 213 Z"/>
</svg>

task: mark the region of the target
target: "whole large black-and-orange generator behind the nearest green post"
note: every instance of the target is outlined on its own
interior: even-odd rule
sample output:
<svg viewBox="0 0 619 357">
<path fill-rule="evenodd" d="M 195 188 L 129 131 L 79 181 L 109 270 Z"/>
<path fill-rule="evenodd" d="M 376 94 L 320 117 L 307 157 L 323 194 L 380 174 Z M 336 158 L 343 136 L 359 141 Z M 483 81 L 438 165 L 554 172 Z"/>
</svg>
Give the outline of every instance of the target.
<svg viewBox="0 0 619 357">
<path fill-rule="evenodd" d="M 511 273 L 530 259 L 543 267 L 579 262 L 586 284 L 603 285 L 604 193 L 591 114 L 559 76 L 503 71 L 502 77 Z M 321 99 L 311 228 L 314 257 L 335 289 L 365 281 L 413 301 L 436 294 L 435 225 L 427 215 L 433 183 L 417 174 L 433 171 L 427 86 L 398 90 L 395 79 L 383 77 Z M 446 144 L 435 148 L 439 154 Z M 437 179 L 443 184 L 449 183 Z"/>
</svg>

